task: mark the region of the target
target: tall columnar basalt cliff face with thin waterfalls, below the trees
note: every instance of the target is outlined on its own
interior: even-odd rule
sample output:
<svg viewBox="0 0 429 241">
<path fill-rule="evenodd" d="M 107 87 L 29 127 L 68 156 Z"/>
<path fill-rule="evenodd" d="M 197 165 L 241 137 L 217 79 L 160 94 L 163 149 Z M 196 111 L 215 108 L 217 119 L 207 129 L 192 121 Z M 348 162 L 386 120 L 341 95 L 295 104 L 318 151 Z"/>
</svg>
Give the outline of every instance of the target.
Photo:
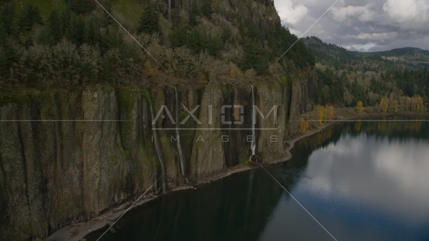
<svg viewBox="0 0 429 241">
<path fill-rule="evenodd" d="M 297 132 L 298 113 L 311 107 L 314 83 L 310 77 L 254 86 L 255 105 L 264 115 L 256 111 L 256 128 L 270 129 L 255 132 L 262 162 L 281 158 L 284 140 Z M 248 162 L 251 86 L 177 91 L 185 177 L 202 182 Z M 175 106 L 173 87 L 1 95 L 0 239 L 46 237 L 135 200 L 163 173 L 153 128 L 158 129 L 167 189 L 184 185 L 172 122 L 177 121 Z M 148 196 L 162 191 L 162 180 Z"/>
</svg>

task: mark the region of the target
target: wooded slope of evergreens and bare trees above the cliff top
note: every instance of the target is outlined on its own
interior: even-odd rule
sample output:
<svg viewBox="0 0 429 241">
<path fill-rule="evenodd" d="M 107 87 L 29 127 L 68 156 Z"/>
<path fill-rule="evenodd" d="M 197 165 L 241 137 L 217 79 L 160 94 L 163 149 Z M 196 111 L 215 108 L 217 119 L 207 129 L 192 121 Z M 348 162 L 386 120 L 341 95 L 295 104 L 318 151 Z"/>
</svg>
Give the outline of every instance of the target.
<svg viewBox="0 0 429 241">
<path fill-rule="evenodd" d="M 240 85 L 308 73 L 314 57 L 281 26 L 271 0 L 100 3 L 6 1 L 0 9 L 0 88 L 154 86 L 209 81 Z"/>
</svg>

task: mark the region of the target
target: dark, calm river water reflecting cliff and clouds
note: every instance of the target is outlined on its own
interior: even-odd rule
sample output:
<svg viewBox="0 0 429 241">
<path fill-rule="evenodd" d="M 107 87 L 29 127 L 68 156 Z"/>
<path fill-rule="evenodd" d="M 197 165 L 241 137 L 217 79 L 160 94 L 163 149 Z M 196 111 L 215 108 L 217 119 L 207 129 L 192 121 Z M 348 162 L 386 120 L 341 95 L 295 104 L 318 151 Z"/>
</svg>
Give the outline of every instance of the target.
<svg viewBox="0 0 429 241">
<path fill-rule="evenodd" d="M 416 119 L 330 126 L 266 169 L 337 240 L 427 241 L 429 122 Z M 334 240 L 261 168 L 161 196 L 115 229 L 101 240 Z"/>
</svg>

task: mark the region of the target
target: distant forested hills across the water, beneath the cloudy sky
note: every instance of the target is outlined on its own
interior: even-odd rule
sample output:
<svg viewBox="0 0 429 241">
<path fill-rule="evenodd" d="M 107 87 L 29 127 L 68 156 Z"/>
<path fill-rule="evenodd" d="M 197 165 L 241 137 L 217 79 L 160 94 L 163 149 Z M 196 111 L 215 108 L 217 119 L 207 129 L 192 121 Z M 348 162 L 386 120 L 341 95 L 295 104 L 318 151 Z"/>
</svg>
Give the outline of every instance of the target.
<svg viewBox="0 0 429 241">
<path fill-rule="evenodd" d="M 412 62 L 418 58 L 424 60 L 427 51 L 403 48 L 359 53 L 316 37 L 307 37 L 304 42 L 317 62 L 318 104 L 356 106 L 362 101 L 364 106 L 379 105 L 385 97 L 390 105 L 396 100 L 399 109 L 415 110 L 417 102 L 429 102 L 429 70 L 424 64 Z M 412 61 L 395 61 L 395 58 Z"/>
</svg>

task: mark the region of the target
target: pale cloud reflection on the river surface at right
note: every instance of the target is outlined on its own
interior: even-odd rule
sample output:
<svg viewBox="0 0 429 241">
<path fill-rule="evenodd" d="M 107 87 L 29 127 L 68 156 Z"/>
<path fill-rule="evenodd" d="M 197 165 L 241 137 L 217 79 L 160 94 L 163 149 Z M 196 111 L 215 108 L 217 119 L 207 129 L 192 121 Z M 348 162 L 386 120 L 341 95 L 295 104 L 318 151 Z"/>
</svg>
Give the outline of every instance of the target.
<svg viewBox="0 0 429 241">
<path fill-rule="evenodd" d="M 301 179 L 295 190 L 326 201 L 378 207 L 403 218 L 427 218 L 427 157 L 425 141 L 389 143 L 387 138 L 346 135 L 309 157 L 305 175 L 312 179 Z"/>
</svg>

